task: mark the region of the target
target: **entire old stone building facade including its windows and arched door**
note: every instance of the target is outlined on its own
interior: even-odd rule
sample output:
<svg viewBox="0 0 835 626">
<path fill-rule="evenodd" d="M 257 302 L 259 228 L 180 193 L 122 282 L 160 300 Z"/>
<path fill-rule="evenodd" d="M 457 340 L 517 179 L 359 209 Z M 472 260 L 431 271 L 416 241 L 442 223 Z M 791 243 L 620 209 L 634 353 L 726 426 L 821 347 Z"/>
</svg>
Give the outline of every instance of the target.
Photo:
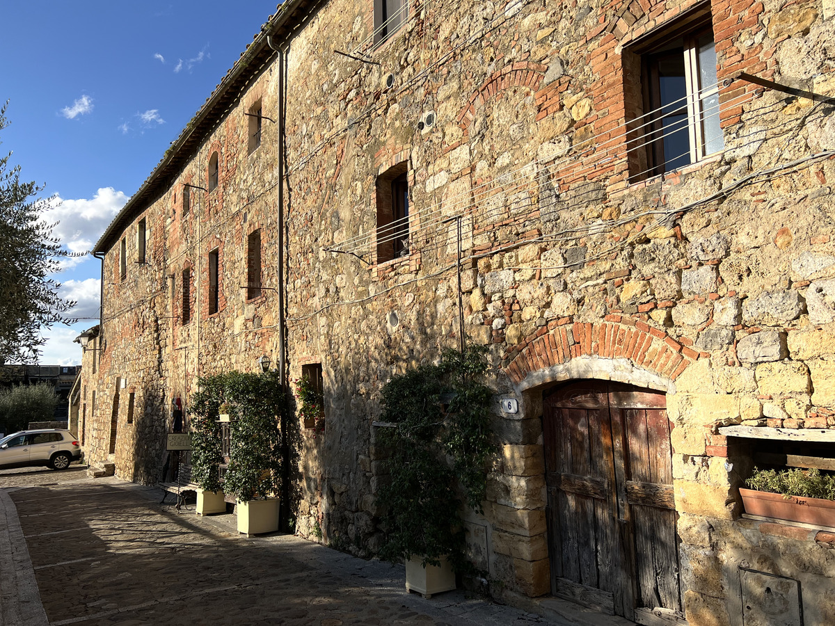
<svg viewBox="0 0 835 626">
<path fill-rule="evenodd" d="M 380 388 L 463 336 L 496 391 L 491 593 L 827 623 L 835 533 L 739 487 L 835 457 L 833 15 L 288 0 L 96 246 L 87 458 L 154 482 L 197 376 L 321 371 L 296 532 L 371 556 Z"/>
</svg>

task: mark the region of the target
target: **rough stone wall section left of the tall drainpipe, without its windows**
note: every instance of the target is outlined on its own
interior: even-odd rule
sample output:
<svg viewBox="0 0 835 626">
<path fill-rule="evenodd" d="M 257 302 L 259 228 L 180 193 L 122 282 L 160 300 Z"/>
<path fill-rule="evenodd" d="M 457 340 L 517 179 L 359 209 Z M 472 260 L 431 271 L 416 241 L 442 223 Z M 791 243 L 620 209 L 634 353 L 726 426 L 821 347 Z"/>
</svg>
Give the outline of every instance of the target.
<svg viewBox="0 0 835 626">
<path fill-rule="evenodd" d="M 104 320 L 101 353 L 84 356 L 85 385 L 97 392 L 88 406 L 85 452 L 94 465 L 114 462 L 116 473 L 136 482 L 160 479 L 164 433 L 180 398 L 198 376 L 231 369 L 254 371 L 257 360 L 277 362 L 276 325 L 276 126 L 264 120 L 261 146 L 247 149 L 245 112 L 262 98 L 265 115 L 276 109 L 272 69 L 251 84 L 237 106 L 192 156 L 170 188 L 124 229 L 127 277 L 121 280 L 119 240 L 104 256 Z M 275 119 L 275 115 L 271 116 Z M 209 160 L 219 156 L 219 180 L 209 189 Z M 184 184 L 190 207 L 184 212 Z M 199 189 L 203 188 L 203 189 Z M 147 251 L 139 263 L 137 225 L 146 220 Z M 261 230 L 261 296 L 247 300 L 247 237 Z M 209 315 L 208 257 L 218 250 L 219 310 Z M 190 270 L 190 321 L 183 323 L 183 271 Z M 96 374 L 89 359 L 99 358 Z M 109 453 L 111 415 L 119 390 L 116 450 Z M 129 393 L 134 420 L 127 422 Z M 88 401 L 89 404 L 89 401 Z"/>
</svg>

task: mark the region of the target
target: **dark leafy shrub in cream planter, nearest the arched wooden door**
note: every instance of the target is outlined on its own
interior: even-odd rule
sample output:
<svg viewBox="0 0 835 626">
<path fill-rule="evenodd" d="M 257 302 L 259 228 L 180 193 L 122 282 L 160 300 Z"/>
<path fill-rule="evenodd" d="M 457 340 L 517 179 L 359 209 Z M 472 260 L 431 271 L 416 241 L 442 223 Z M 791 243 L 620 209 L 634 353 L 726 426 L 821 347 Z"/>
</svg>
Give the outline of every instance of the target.
<svg viewBox="0 0 835 626">
<path fill-rule="evenodd" d="M 447 351 L 382 389 L 377 442 L 391 452 L 377 500 L 386 512 L 381 556 L 406 563 L 406 588 L 430 596 L 470 572 L 463 512 L 480 512 L 493 453 L 485 350 Z"/>
</svg>

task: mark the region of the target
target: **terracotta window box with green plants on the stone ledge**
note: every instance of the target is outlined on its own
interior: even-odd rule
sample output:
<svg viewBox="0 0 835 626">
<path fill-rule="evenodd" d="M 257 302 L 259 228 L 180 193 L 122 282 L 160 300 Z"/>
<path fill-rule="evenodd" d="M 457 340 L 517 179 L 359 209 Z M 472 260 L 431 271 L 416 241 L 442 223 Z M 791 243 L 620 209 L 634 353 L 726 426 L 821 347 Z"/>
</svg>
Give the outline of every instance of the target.
<svg viewBox="0 0 835 626">
<path fill-rule="evenodd" d="M 835 476 L 814 468 L 755 467 L 746 486 L 739 490 L 746 513 L 835 527 Z"/>
</svg>

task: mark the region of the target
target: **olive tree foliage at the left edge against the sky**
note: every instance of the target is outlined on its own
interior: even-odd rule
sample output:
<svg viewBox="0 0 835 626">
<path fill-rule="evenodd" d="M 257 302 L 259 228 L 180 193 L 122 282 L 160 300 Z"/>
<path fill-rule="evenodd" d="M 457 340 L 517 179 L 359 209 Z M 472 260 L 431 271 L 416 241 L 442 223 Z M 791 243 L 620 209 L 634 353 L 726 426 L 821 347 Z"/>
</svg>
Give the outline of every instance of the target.
<svg viewBox="0 0 835 626">
<path fill-rule="evenodd" d="M 8 126 L 0 109 L 0 130 Z M 64 317 L 75 303 L 58 295 L 61 286 L 49 278 L 66 255 L 52 236 L 54 225 L 41 220 L 48 200 L 33 199 L 43 190 L 21 182 L 20 166 L 10 166 L 11 153 L 0 157 L 0 364 L 37 361 L 40 330 Z"/>
</svg>

